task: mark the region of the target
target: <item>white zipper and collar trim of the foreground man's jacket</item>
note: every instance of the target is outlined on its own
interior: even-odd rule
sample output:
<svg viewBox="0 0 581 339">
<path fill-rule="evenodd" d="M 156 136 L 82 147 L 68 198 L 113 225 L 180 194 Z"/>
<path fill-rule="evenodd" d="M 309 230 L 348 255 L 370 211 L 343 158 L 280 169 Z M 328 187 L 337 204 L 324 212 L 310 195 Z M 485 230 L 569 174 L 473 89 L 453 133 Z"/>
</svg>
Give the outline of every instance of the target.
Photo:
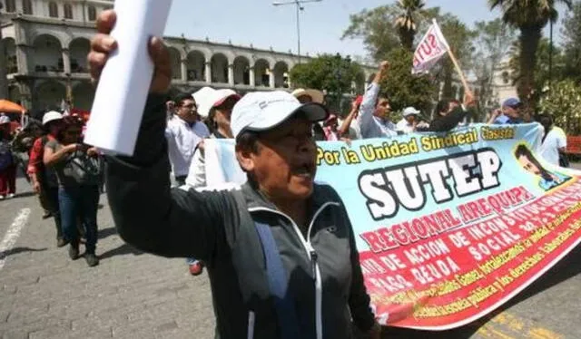
<svg viewBox="0 0 581 339">
<path fill-rule="evenodd" d="M 320 213 L 325 208 L 328 208 L 329 206 L 340 206 L 340 204 L 337 202 L 326 202 L 319 209 L 317 209 L 317 211 L 313 215 L 312 219 L 310 220 L 310 225 L 309 225 L 309 229 L 307 231 L 307 239 L 306 240 L 304 237 L 302 237 L 302 234 L 300 233 L 300 229 L 297 226 L 297 224 L 294 222 L 294 220 L 292 220 L 291 217 L 287 216 L 286 214 L 282 213 L 281 211 L 271 209 L 271 208 L 249 208 L 249 211 L 251 211 L 251 212 L 259 211 L 259 210 L 267 211 L 267 212 L 271 212 L 274 214 L 278 214 L 278 215 L 280 215 L 284 218 L 287 218 L 291 221 L 292 228 L 294 229 L 295 233 L 299 237 L 300 242 L 302 243 L 302 247 L 304 247 L 305 251 L 307 252 L 307 257 L 309 257 L 310 267 L 311 267 L 311 271 L 313 273 L 313 279 L 315 282 L 315 319 L 316 319 L 316 324 L 317 324 L 317 339 L 323 338 L 322 282 L 321 282 L 321 276 L 320 276 L 319 263 L 317 262 L 317 259 L 319 258 L 319 256 L 317 255 L 317 251 L 315 251 L 315 248 L 313 248 L 311 243 L 310 243 L 310 231 L 312 230 L 312 227 L 314 226 L 315 221 L 319 217 Z"/>
</svg>

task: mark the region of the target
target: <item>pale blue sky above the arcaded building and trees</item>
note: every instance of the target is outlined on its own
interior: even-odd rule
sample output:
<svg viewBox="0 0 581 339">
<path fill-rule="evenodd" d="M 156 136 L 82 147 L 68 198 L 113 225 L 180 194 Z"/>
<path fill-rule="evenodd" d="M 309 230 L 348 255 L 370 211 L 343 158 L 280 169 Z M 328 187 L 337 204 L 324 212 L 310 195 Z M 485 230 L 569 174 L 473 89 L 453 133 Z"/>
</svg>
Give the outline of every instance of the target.
<svg viewBox="0 0 581 339">
<path fill-rule="evenodd" d="M 283 0 L 288 1 L 288 0 Z M 350 15 L 365 8 L 393 3 L 394 0 L 322 0 L 305 4 L 300 13 L 300 52 L 341 53 L 366 56 L 360 40 L 341 40 L 350 24 Z M 476 21 L 493 20 L 499 12 L 491 12 L 487 0 L 427 0 L 428 7 L 439 6 L 442 12 L 457 15 L 472 25 Z M 564 13 L 561 11 L 561 17 Z M 555 37 L 558 38 L 556 27 Z M 173 0 L 165 29 L 166 35 L 212 42 L 229 43 L 297 52 L 295 5 L 272 5 L 272 0 Z M 419 33 L 422 34 L 422 33 Z M 548 35 L 548 31 L 546 33 Z"/>
</svg>

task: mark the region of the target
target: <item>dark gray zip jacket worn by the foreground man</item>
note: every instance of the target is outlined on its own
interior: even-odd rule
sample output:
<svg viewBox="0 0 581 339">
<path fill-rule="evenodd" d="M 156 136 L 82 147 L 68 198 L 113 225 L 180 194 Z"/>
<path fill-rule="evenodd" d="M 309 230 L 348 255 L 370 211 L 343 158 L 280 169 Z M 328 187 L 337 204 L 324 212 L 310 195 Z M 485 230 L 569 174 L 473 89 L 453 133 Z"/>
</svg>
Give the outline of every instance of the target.
<svg viewBox="0 0 581 339">
<path fill-rule="evenodd" d="M 255 223 L 271 228 L 301 332 L 350 338 L 373 325 L 347 212 L 334 189 L 316 185 L 302 229 L 249 185 L 170 189 L 162 96 L 150 96 L 134 156 L 108 161 L 107 192 L 125 241 L 163 257 L 196 257 L 208 266 L 222 338 L 279 338 L 265 258 Z M 318 328 L 319 327 L 319 328 Z M 252 334 L 252 335 L 251 335 Z"/>
</svg>

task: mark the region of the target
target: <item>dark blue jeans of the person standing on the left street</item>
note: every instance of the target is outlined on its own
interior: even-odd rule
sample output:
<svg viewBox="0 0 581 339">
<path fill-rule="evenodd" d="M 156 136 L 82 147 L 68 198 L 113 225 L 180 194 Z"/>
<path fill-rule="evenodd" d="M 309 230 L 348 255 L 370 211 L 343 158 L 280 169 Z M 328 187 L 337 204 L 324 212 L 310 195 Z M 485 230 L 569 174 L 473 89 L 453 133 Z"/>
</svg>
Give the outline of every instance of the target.
<svg viewBox="0 0 581 339">
<path fill-rule="evenodd" d="M 78 246 L 79 230 L 76 223 L 77 218 L 80 216 L 87 239 L 85 244 L 86 252 L 94 254 L 97 246 L 99 187 L 96 185 L 82 185 L 74 188 L 61 187 L 58 189 L 58 202 L 64 238 L 71 245 Z"/>
</svg>

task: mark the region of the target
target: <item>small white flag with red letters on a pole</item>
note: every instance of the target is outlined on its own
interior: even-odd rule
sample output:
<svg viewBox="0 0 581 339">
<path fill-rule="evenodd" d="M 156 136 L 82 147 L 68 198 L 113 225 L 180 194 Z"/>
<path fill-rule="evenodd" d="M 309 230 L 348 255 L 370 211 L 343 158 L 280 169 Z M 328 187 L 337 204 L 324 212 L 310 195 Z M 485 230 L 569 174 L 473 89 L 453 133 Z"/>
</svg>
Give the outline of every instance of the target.
<svg viewBox="0 0 581 339">
<path fill-rule="evenodd" d="M 448 42 L 434 19 L 434 24 L 429 26 L 428 32 L 421 39 L 418 49 L 414 53 L 414 65 L 411 73 L 428 72 L 444 54 L 448 53 L 448 50 Z"/>
</svg>

